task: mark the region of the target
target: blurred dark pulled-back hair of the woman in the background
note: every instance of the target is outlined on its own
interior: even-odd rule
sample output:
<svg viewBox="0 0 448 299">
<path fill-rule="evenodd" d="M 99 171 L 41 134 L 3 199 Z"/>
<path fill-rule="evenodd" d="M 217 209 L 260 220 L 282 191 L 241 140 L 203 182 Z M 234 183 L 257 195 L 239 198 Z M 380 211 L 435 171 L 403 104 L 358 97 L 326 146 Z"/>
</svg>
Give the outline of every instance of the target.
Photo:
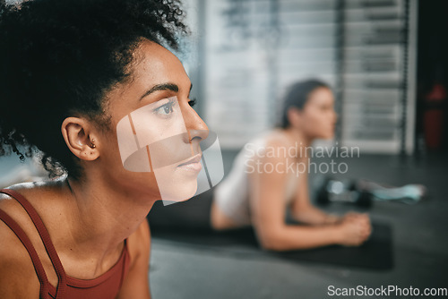
<svg viewBox="0 0 448 299">
<path fill-rule="evenodd" d="M 283 129 L 288 128 L 289 108 L 295 107 L 299 110 L 302 110 L 305 107 L 306 101 L 309 99 L 311 93 L 313 93 L 314 90 L 321 88 L 330 89 L 330 86 L 327 83 L 316 79 L 298 81 L 289 86 L 289 89 L 285 97 L 283 98 L 280 114 L 280 124 L 278 124 L 278 126 Z"/>
</svg>

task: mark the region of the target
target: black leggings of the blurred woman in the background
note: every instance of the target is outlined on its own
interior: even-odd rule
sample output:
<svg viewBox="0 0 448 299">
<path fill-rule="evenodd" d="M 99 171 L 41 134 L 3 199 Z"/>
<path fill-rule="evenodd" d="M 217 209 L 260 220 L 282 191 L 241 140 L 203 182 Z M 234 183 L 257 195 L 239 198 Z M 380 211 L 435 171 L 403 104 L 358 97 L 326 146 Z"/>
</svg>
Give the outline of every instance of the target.
<svg viewBox="0 0 448 299">
<path fill-rule="evenodd" d="M 188 201 L 182 201 L 164 206 L 162 201 L 156 201 L 148 215 L 152 229 L 195 229 L 211 230 L 211 201 L 213 190 L 208 190 L 194 196 Z"/>
</svg>

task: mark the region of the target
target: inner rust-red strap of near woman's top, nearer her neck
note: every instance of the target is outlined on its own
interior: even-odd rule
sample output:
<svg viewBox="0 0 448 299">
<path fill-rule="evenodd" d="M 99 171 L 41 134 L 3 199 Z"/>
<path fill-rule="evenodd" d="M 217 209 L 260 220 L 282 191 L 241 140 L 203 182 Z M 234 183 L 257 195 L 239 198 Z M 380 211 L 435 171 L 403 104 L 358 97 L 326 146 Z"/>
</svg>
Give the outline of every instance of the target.
<svg viewBox="0 0 448 299">
<path fill-rule="evenodd" d="M 23 209 L 25 209 L 25 211 L 30 216 L 31 221 L 38 230 L 42 243 L 44 243 L 45 249 L 48 253 L 51 263 L 53 264 L 53 267 L 55 267 L 56 270 L 56 275 L 58 278 L 56 299 L 64 298 L 65 288 L 67 286 L 65 270 L 64 267 L 62 266 L 59 256 L 57 255 L 56 248 L 51 242 L 51 238 L 50 235 L 48 234 L 47 228 L 42 222 L 42 219 L 39 217 L 38 212 L 31 206 L 30 202 L 27 201 L 19 192 L 15 192 L 11 189 L 2 189 L 0 190 L 0 192 L 8 194 L 9 196 L 13 197 L 13 199 L 15 199 L 16 201 L 19 201 Z"/>
</svg>

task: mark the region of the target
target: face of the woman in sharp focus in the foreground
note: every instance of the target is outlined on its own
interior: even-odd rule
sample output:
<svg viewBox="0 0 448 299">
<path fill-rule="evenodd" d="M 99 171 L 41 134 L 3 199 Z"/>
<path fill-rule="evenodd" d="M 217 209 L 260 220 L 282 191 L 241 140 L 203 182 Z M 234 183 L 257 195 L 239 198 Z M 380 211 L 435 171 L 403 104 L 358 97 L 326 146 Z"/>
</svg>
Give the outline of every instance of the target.
<svg viewBox="0 0 448 299">
<path fill-rule="evenodd" d="M 196 192 L 208 128 L 190 106 L 192 85 L 176 56 L 143 41 L 135 61 L 131 80 L 108 94 L 111 130 L 101 134 L 101 167 L 116 188 L 186 200 Z"/>
</svg>

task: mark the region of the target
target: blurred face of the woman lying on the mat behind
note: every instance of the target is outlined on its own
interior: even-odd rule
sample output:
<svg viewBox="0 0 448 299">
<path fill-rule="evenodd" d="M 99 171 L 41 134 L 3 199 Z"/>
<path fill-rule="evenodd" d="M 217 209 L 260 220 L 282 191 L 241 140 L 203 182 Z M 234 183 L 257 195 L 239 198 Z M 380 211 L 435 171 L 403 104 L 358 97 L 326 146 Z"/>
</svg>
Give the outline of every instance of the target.
<svg viewBox="0 0 448 299">
<path fill-rule="evenodd" d="M 311 92 L 300 115 L 301 130 L 309 139 L 331 139 L 337 120 L 332 90 L 318 88 Z"/>
</svg>

